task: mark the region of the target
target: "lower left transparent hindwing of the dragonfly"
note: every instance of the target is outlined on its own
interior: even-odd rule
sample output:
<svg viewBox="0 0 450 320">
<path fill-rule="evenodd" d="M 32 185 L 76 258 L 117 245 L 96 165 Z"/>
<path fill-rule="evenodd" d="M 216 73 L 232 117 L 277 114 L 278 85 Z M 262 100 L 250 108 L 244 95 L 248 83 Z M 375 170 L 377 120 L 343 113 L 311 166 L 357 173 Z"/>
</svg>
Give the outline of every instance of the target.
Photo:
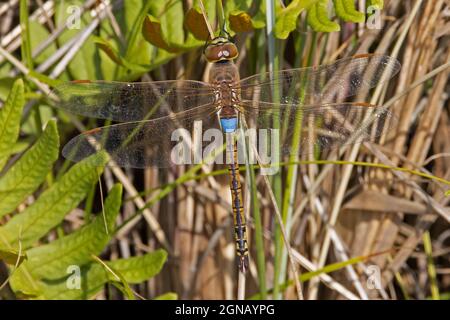
<svg viewBox="0 0 450 320">
<path fill-rule="evenodd" d="M 203 131 L 219 130 L 216 111 L 216 106 L 206 105 L 158 119 L 96 128 L 70 140 L 62 153 L 81 161 L 105 150 L 111 166 L 130 168 L 199 163 L 194 152 L 203 148 Z"/>
</svg>

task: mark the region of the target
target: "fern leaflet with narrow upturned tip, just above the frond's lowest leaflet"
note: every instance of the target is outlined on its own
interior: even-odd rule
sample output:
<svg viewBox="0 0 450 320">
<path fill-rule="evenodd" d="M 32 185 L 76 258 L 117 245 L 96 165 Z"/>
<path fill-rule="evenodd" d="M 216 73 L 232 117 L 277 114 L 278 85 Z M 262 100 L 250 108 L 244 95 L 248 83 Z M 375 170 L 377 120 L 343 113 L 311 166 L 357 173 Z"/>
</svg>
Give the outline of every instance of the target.
<svg viewBox="0 0 450 320">
<path fill-rule="evenodd" d="M 35 278 L 58 279 L 67 275 L 70 265 L 84 265 L 92 255 L 99 255 L 114 232 L 116 217 L 122 203 L 122 186 L 115 185 L 105 200 L 105 218 L 97 214 L 92 222 L 79 230 L 49 244 L 27 251 L 28 261 L 24 264 Z"/>
</svg>

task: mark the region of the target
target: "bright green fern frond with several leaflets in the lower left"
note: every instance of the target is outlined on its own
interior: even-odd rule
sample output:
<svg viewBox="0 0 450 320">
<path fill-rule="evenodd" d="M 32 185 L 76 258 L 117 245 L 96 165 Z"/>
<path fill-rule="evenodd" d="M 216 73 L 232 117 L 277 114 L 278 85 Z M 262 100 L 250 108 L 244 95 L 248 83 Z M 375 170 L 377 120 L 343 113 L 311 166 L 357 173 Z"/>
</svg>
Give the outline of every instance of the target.
<svg viewBox="0 0 450 320">
<path fill-rule="evenodd" d="M 7 163 L 17 143 L 24 105 L 24 84 L 17 80 L 0 110 L 0 164 Z M 69 234 L 62 228 L 64 217 L 86 197 L 97 182 L 107 161 L 105 154 L 94 155 L 76 165 L 55 182 L 46 182 L 58 158 L 59 137 L 56 122 L 48 122 L 39 139 L 0 177 L 0 217 L 12 215 L 0 226 L 0 258 L 10 266 L 10 285 L 20 297 L 39 299 L 91 298 L 111 282 L 119 288 L 156 275 L 167 254 L 163 250 L 129 259 L 98 263 L 114 235 L 116 217 L 122 203 L 122 186 L 116 184 L 104 204 L 104 215 L 92 217 Z M 46 186 L 44 186 L 46 185 Z M 42 186 L 39 197 L 13 214 L 23 201 Z M 45 241 L 57 228 L 58 238 Z M 71 269 L 74 267 L 75 269 Z M 80 270 L 71 274 L 70 270 Z M 114 273 L 111 272 L 114 270 Z M 70 286 L 78 279 L 80 287 Z M 134 296 L 126 291 L 128 298 Z"/>
</svg>

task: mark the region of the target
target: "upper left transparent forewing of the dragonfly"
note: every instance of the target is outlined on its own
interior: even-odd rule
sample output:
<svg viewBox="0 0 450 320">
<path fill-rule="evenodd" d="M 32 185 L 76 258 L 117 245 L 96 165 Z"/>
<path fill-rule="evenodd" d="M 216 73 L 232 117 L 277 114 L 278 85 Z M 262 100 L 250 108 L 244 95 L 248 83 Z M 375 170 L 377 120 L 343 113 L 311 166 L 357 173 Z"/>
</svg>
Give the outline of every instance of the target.
<svg viewBox="0 0 450 320">
<path fill-rule="evenodd" d="M 74 81 L 57 86 L 56 105 L 69 112 L 119 122 L 156 119 L 214 102 L 208 83 Z"/>
</svg>

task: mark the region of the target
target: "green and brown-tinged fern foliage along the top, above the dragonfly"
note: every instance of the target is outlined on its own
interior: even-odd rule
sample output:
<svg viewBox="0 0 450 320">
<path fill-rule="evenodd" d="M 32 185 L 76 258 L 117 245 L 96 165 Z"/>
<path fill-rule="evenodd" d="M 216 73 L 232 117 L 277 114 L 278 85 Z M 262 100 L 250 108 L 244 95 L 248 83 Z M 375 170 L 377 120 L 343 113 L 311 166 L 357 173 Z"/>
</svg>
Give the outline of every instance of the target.
<svg viewBox="0 0 450 320">
<path fill-rule="evenodd" d="M 214 19 L 218 10 L 215 1 L 204 2 L 208 17 Z M 339 31 L 339 24 L 328 17 L 327 5 L 329 2 L 331 0 L 294 0 L 283 8 L 277 1 L 275 37 L 286 39 L 296 29 L 299 16 L 304 11 L 308 16 L 308 24 L 313 30 Z M 333 0 L 333 3 L 336 15 L 341 20 L 364 21 L 365 14 L 356 10 L 354 1 Z M 181 0 L 149 1 L 144 7 L 141 7 L 140 1 L 132 0 L 126 1 L 124 6 L 124 12 L 126 12 L 124 19 L 119 18 L 118 20 L 124 22 L 121 26 L 123 30 L 126 30 L 122 39 L 125 41 L 101 34 L 94 38 L 94 43 L 103 53 L 100 55 L 102 61 L 106 55 L 110 58 L 110 62 L 114 62 L 113 66 L 110 64 L 108 66 L 116 69 L 115 74 L 118 79 L 135 78 L 169 61 L 176 55 L 202 46 L 208 38 L 198 0 L 194 1 L 194 6 L 186 13 Z M 377 1 L 377 6 L 382 7 L 382 1 Z M 224 9 L 225 21 L 232 33 L 253 31 L 266 26 L 264 1 L 230 0 L 226 1 Z M 106 34 L 111 34 L 112 31 L 107 25 L 102 25 L 102 30 L 107 30 Z M 144 39 L 152 46 L 145 44 Z M 125 43 L 126 45 L 124 45 Z M 88 46 L 84 48 L 86 49 L 83 50 L 88 50 Z M 163 50 L 153 52 L 155 48 Z M 87 70 L 93 69 L 87 68 Z M 102 68 L 102 70 L 105 72 L 105 69 Z M 78 76 L 76 78 L 86 77 Z M 95 78 L 93 75 L 88 77 L 88 79 Z"/>
</svg>

